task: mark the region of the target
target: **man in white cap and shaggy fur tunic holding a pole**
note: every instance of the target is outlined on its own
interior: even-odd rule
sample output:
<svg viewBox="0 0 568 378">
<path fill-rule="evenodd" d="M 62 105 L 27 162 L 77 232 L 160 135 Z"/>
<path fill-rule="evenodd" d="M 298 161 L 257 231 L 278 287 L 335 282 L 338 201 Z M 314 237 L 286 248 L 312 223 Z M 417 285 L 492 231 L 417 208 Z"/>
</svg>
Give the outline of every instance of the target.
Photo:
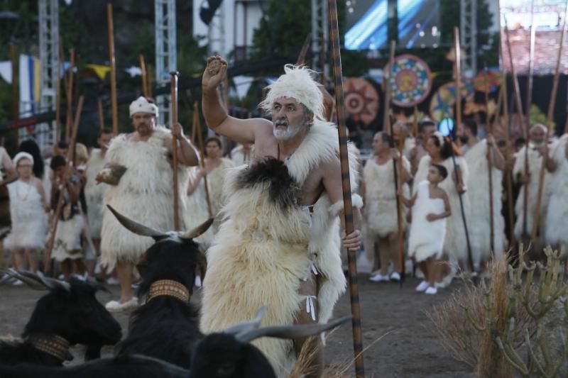
<svg viewBox="0 0 568 378">
<path fill-rule="evenodd" d="M 139 97 L 133 101 L 130 116 L 135 131 L 117 135 L 105 155 L 105 167 L 122 167 L 123 173 L 118 184 L 115 179 L 113 184 L 107 185 L 104 204 L 156 230 L 173 230 L 173 135 L 178 139 L 178 167 L 175 167 L 178 169 L 178 193 L 185 193 L 187 166 L 197 165 L 199 157 L 179 124 L 171 131 L 156 126 L 158 106 L 151 100 Z M 185 196 L 180 196 L 179 202 L 181 215 Z M 104 206 L 101 236 L 102 265 L 108 271 L 116 267 L 121 287 L 120 300 L 107 303 L 107 309 L 122 311 L 136 306 L 138 299 L 131 288 L 133 266 L 153 240 L 124 232 L 107 206 Z"/>
</svg>

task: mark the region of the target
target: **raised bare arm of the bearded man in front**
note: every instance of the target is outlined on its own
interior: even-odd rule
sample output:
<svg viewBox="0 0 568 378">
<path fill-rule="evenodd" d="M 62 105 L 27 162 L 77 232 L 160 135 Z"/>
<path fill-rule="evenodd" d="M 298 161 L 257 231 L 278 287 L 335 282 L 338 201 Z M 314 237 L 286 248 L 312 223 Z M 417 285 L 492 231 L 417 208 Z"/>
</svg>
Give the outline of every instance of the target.
<svg viewBox="0 0 568 378">
<path fill-rule="evenodd" d="M 209 73 L 209 65 L 214 61 L 221 62 L 217 74 Z M 239 143 L 254 143 L 255 129 L 258 126 L 271 124 L 263 118 L 239 119 L 229 116 L 219 101 L 217 87 L 224 80 L 227 63 L 222 57 L 208 57 L 207 67 L 202 77 L 202 110 L 207 126 L 215 133 L 221 134 Z"/>
</svg>

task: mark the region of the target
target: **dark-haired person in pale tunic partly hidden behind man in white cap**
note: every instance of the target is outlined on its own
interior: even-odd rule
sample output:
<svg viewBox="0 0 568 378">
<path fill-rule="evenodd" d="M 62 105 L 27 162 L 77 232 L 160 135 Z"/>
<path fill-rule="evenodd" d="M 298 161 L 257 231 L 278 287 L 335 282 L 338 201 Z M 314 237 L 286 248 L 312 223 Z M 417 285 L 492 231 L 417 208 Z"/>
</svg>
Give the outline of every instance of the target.
<svg viewBox="0 0 568 378">
<path fill-rule="evenodd" d="M 104 155 L 107 153 L 111 139 L 112 130 L 104 128 L 99 131 L 97 138 L 99 148 L 92 149 L 89 160 L 87 160 L 87 169 L 85 169 L 87 182 L 84 185 L 84 196 L 87 200 L 87 221 L 89 222 L 89 233 L 97 253 L 100 252 L 101 245 L 102 199 L 107 186 L 99 184 L 95 178 L 104 167 Z"/>
</svg>

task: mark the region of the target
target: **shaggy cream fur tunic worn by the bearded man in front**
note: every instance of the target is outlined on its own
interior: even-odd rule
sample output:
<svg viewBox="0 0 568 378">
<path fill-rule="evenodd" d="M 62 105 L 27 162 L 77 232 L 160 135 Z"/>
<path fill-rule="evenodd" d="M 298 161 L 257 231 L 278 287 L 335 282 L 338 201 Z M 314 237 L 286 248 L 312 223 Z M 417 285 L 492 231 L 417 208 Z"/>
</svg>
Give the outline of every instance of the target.
<svg viewBox="0 0 568 378">
<path fill-rule="evenodd" d="M 224 222 L 207 252 L 201 318 L 204 333 L 250 320 L 263 305 L 268 306 L 263 325 L 292 324 L 305 299 L 298 289 L 300 279 L 310 271 L 310 260 L 320 274 L 318 321 L 326 323 L 332 316 L 346 284 L 337 216 L 342 203 L 332 204 L 327 194 L 322 194 L 314 206 L 311 227 L 310 216 L 300 206 L 280 203 L 302 187 L 320 162 L 337 159 L 338 148 L 337 129 L 331 123 L 315 121 L 293 155 L 280 163 L 293 178 L 290 184 L 282 184 L 288 182 L 283 178 L 286 169 L 266 169 L 257 179 L 251 177 L 249 172 L 257 172 L 264 162 L 231 169 L 225 185 L 229 196 Z M 349 157 L 354 164 L 351 182 L 355 190 L 356 157 Z M 263 175 L 268 178 L 261 179 Z M 254 344 L 279 377 L 288 377 L 295 360 L 291 340 L 262 338 Z"/>
</svg>

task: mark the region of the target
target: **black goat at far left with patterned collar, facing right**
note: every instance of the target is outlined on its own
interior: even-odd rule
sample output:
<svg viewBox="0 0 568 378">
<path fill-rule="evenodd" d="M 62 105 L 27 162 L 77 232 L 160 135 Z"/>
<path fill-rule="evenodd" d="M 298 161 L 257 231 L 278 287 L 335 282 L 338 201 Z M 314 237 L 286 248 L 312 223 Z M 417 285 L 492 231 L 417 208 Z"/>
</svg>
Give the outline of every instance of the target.
<svg viewBox="0 0 568 378">
<path fill-rule="evenodd" d="M 101 285 L 79 279 L 64 282 L 13 269 L 3 272 L 49 293 L 35 304 L 21 336 L 23 341 L 0 342 L 0 363 L 62 366 L 65 360 L 72 360 L 70 345 L 87 345 L 85 358 L 89 360 L 100 357 L 102 345 L 120 341 L 119 322 L 95 297 L 104 289 Z"/>
</svg>

